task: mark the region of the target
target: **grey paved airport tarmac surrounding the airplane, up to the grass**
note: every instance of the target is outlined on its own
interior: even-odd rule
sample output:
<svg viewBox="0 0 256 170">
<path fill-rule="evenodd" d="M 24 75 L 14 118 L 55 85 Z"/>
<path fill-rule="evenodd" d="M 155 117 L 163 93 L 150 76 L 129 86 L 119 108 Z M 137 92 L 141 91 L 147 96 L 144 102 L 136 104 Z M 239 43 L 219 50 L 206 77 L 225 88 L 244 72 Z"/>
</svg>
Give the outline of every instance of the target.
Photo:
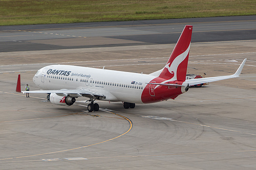
<svg viewBox="0 0 256 170">
<path fill-rule="evenodd" d="M 0 28 L 0 169 L 256 168 L 255 16 L 130 23 L 31 26 L 32 32 L 29 26 Z M 23 90 L 27 83 L 38 90 L 32 78 L 49 64 L 154 72 L 177 41 L 164 37 L 179 37 L 186 23 L 195 31 L 189 74 L 231 75 L 247 58 L 241 77 L 135 109 L 99 101 L 101 110 L 91 113 L 86 98 L 63 107 L 44 94 L 26 98 L 15 92 L 18 74 Z M 218 41 L 197 37 L 213 30 Z"/>
</svg>

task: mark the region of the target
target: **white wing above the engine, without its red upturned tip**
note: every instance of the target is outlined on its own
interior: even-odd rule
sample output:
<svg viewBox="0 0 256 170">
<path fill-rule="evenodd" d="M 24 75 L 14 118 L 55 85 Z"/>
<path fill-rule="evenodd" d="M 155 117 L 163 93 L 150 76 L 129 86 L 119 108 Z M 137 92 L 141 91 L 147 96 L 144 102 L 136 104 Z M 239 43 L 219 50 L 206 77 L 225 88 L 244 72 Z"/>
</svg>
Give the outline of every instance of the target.
<svg viewBox="0 0 256 170">
<path fill-rule="evenodd" d="M 87 88 L 78 88 L 78 89 L 61 89 L 61 90 L 34 90 L 34 91 L 22 91 L 23 93 L 56 93 L 59 96 L 72 96 L 76 97 L 95 97 L 95 96 L 104 96 L 97 91 L 90 90 Z"/>
</svg>

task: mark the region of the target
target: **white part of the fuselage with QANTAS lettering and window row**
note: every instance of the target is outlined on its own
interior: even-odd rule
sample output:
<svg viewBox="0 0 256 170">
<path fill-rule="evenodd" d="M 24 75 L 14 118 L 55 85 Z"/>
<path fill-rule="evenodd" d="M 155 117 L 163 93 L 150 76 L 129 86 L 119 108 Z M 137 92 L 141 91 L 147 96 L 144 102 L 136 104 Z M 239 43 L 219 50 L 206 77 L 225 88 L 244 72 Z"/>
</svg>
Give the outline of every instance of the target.
<svg viewBox="0 0 256 170">
<path fill-rule="evenodd" d="M 105 101 L 142 103 L 141 94 L 147 84 L 156 78 L 108 69 L 72 65 L 49 65 L 38 70 L 33 81 L 42 90 L 87 88 L 105 97 Z"/>
</svg>

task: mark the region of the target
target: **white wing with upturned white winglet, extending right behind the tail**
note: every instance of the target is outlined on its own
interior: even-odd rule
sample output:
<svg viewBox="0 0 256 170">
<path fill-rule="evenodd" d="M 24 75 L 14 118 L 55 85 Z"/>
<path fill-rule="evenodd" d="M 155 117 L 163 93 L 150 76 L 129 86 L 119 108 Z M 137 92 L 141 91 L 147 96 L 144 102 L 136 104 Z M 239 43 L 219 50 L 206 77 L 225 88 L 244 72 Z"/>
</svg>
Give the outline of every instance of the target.
<svg viewBox="0 0 256 170">
<path fill-rule="evenodd" d="M 244 67 L 244 64 L 246 62 L 246 59 L 242 62 L 238 70 L 236 71 L 235 74 L 230 75 L 230 76 L 219 76 L 219 77 L 207 77 L 207 78 L 201 78 L 201 79 L 189 79 L 186 80 L 186 82 L 189 84 L 189 86 L 197 85 L 197 84 L 202 84 L 202 83 L 209 83 L 209 82 L 215 82 L 219 80 L 225 80 L 225 79 L 231 79 L 231 78 L 236 78 L 239 77 L 241 74 L 241 71 Z"/>
</svg>

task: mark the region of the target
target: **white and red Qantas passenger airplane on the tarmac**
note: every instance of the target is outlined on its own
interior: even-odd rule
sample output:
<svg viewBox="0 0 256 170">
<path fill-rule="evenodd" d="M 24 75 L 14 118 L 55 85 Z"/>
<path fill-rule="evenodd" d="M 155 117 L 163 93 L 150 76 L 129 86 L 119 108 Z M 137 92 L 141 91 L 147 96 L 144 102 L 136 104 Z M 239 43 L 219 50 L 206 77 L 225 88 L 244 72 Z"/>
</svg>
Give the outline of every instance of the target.
<svg viewBox="0 0 256 170">
<path fill-rule="evenodd" d="M 125 109 L 135 104 L 148 104 L 175 99 L 188 91 L 189 86 L 239 77 L 246 59 L 230 76 L 186 79 L 193 26 L 185 26 L 166 65 L 152 74 L 138 74 L 73 65 L 49 65 L 39 69 L 33 82 L 41 90 L 21 91 L 20 76 L 17 92 L 46 93 L 56 105 L 71 106 L 76 98 L 89 98 L 88 111 L 98 111 L 95 100 L 123 102 Z"/>
</svg>

